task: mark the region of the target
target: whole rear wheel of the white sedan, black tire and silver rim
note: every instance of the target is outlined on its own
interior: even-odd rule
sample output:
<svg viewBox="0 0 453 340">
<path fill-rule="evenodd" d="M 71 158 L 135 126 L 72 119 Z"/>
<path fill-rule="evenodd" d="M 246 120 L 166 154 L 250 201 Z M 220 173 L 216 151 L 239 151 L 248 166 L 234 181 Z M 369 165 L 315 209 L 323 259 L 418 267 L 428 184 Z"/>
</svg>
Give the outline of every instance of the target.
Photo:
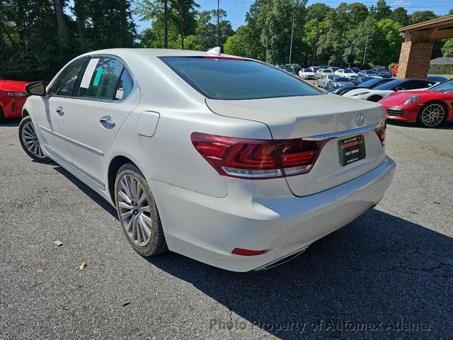
<svg viewBox="0 0 453 340">
<path fill-rule="evenodd" d="M 115 203 L 122 230 L 138 254 L 154 256 L 167 250 L 154 196 L 134 164 L 127 163 L 118 170 Z"/>
</svg>

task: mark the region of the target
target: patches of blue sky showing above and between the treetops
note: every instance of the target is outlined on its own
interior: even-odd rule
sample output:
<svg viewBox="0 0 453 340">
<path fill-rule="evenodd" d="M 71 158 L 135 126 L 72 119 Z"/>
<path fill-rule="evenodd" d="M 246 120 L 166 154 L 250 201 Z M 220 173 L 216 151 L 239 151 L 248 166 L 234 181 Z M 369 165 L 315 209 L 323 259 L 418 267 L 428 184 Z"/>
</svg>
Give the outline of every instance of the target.
<svg viewBox="0 0 453 340">
<path fill-rule="evenodd" d="M 139 1 L 139 0 L 137 0 Z M 217 0 L 195 0 L 198 4 L 200 4 L 201 10 L 210 10 L 217 8 Z M 227 19 L 231 21 L 231 25 L 234 29 L 238 28 L 238 26 L 243 25 L 244 19 L 246 17 L 246 13 L 250 8 L 250 5 L 253 4 L 255 0 L 220 0 L 220 7 L 224 8 L 226 11 Z M 366 6 L 371 6 L 376 4 L 374 0 L 364 0 L 364 1 L 336 1 L 336 0 L 326 0 L 326 1 L 309 1 L 308 5 L 314 4 L 316 2 L 323 2 L 328 6 L 335 8 L 341 2 L 361 2 Z M 396 7 L 404 7 L 407 9 L 408 13 L 412 13 L 413 11 L 433 11 L 438 15 L 445 15 L 448 13 L 450 8 L 453 8 L 453 1 L 452 0 L 387 0 L 387 4 L 391 6 L 392 9 Z M 149 23 L 147 22 L 140 22 L 137 20 L 137 24 L 139 25 L 139 30 L 143 28 L 149 27 Z"/>
</svg>

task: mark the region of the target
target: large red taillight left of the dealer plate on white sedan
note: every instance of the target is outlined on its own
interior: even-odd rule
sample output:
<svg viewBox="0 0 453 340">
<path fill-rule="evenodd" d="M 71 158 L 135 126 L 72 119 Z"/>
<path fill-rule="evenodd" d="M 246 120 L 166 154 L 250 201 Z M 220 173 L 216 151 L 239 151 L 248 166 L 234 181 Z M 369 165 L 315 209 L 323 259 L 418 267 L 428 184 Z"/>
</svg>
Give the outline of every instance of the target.
<svg viewBox="0 0 453 340">
<path fill-rule="evenodd" d="M 193 132 L 193 146 L 222 176 L 275 179 L 305 174 L 319 153 L 314 142 L 248 140 Z"/>
</svg>

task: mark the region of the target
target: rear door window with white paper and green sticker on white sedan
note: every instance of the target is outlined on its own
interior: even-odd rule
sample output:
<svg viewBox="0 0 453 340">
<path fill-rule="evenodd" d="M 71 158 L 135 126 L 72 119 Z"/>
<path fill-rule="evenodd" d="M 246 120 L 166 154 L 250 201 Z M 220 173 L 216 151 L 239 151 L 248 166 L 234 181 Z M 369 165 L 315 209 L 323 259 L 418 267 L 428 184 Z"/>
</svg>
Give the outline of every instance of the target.
<svg viewBox="0 0 453 340">
<path fill-rule="evenodd" d="M 79 86 L 79 97 L 113 100 L 123 65 L 110 57 L 93 57 L 88 62 Z"/>
</svg>

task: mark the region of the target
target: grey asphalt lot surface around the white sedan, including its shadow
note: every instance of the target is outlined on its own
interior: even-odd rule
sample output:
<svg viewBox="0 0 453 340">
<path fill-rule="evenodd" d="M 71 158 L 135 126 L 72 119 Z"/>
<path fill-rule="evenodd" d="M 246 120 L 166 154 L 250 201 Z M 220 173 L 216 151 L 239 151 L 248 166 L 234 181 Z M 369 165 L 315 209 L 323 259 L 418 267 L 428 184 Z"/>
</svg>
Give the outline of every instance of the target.
<svg viewBox="0 0 453 340">
<path fill-rule="evenodd" d="M 143 259 L 113 208 L 17 132 L 0 125 L 1 339 L 453 338 L 452 125 L 389 125 L 382 203 L 254 273 Z"/>
</svg>

